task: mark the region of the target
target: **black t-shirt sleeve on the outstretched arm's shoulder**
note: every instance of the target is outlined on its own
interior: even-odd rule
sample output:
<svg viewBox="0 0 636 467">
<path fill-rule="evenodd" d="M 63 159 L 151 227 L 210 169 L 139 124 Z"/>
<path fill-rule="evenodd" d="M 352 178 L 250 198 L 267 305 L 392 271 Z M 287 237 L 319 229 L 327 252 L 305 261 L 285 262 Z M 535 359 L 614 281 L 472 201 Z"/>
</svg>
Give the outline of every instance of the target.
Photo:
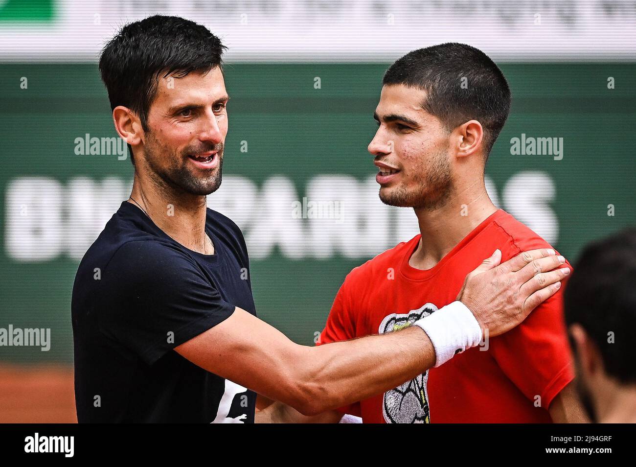
<svg viewBox="0 0 636 467">
<path fill-rule="evenodd" d="M 156 240 L 128 242 L 100 280 L 99 329 L 148 365 L 234 312 L 195 261 Z"/>
</svg>

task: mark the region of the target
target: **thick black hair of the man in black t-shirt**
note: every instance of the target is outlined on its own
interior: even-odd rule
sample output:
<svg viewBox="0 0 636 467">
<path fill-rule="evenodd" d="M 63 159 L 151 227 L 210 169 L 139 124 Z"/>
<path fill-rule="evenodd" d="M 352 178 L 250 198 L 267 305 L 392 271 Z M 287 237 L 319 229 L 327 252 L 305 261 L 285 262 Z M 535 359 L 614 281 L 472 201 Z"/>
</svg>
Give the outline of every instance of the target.
<svg viewBox="0 0 636 467">
<path fill-rule="evenodd" d="M 156 15 L 125 25 L 106 44 L 99 60 L 111 111 L 117 106 L 131 109 L 148 131 L 148 111 L 160 75 L 183 78 L 193 71 L 207 73 L 221 66 L 223 50 L 225 46 L 207 27 L 184 18 Z M 130 145 L 128 150 L 132 160 Z"/>
</svg>

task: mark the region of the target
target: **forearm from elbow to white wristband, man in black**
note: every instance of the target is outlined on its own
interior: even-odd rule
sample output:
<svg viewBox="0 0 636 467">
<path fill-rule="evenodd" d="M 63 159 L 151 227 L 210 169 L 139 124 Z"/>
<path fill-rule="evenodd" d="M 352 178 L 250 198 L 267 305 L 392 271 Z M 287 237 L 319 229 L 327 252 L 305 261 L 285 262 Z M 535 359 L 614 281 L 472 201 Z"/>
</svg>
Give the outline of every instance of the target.
<svg viewBox="0 0 636 467">
<path fill-rule="evenodd" d="M 388 391 L 435 365 L 431 340 L 417 326 L 384 335 L 308 347 L 296 364 L 306 415 Z"/>
</svg>

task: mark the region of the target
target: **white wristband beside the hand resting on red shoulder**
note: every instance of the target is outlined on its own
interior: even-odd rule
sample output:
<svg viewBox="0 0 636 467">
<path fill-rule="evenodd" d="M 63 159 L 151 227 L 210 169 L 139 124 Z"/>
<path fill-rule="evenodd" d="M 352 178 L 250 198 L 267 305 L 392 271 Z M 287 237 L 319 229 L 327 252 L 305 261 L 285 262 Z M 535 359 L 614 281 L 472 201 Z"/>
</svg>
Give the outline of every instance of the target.
<svg viewBox="0 0 636 467">
<path fill-rule="evenodd" d="M 481 327 L 471 310 L 462 302 L 453 302 L 429 316 L 415 321 L 435 347 L 435 366 L 442 365 L 481 341 Z"/>
</svg>

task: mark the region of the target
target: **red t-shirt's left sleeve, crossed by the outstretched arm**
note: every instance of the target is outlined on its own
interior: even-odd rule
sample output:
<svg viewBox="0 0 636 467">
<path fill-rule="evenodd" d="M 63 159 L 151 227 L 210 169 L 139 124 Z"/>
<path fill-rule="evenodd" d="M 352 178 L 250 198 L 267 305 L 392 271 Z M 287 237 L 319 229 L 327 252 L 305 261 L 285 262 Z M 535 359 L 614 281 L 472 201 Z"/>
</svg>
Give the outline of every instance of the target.
<svg viewBox="0 0 636 467">
<path fill-rule="evenodd" d="M 340 290 L 336 294 L 336 298 L 331 305 L 331 311 L 327 317 L 327 323 L 320 335 L 316 345 L 329 344 L 331 342 L 340 342 L 342 340 L 350 340 L 356 337 L 356 328 L 352 320 L 351 307 L 348 289 L 350 286 L 350 278 L 347 277 L 345 282 L 340 286 Z M 362 417 L 360 403 L 352 403 L 338 408 L 342 414 L 356 415 Z"/>
</svg>

